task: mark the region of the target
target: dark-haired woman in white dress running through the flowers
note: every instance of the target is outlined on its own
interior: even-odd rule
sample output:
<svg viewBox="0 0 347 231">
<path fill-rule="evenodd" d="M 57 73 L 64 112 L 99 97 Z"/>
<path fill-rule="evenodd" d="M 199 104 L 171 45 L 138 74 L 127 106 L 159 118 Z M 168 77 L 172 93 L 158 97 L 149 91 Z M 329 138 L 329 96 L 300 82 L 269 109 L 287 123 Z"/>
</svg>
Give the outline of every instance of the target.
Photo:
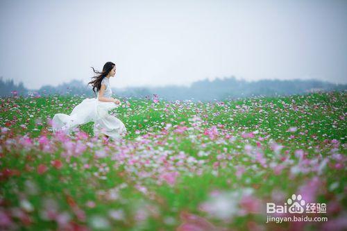
<svg viewBox="0 0 347 231">
<path fill-rule="evenodd" d="M 76 105 L 70 115 L 55 114 L 52 119 L 53 132 L 64 130 L 69 134 L 78 125 L 94 121 L 94 135 L 103 134 L 105 137 L 113 139 L 126 135 L 126 127 L 116 117 L 108 114 L 109 110 L 118 108 L 121 102 L 112 98 L 110 78 L 115 77 L 116 65 L 113 62 L 106 62 L 103 71 L 95 71 L 96 76 L 88 85 L 92 85 L 96 98 L 84 99 L 82 103 Z"/>
</svg>

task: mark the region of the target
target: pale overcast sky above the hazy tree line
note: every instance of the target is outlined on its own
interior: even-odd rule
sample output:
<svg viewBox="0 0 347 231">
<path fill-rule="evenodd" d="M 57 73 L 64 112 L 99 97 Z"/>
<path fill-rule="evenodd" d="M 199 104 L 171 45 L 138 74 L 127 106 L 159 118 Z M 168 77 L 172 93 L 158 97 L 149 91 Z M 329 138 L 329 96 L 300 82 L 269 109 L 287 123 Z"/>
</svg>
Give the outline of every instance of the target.
<svg viewBox="0 0 347 231">
<path fill-rule="evenodd" d="M 347 1 L 0 1 L 0 76 L 30 89 L 115 62 L 112 87 L 347 83 Z"/>
</svg>

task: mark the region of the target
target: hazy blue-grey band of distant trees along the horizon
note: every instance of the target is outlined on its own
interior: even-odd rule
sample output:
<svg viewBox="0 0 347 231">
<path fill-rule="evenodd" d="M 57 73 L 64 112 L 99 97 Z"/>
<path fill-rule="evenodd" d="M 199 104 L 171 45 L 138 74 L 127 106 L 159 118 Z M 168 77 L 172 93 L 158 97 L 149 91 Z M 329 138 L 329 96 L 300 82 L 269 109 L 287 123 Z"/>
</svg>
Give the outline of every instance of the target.
<svg viewBox="0 0 347 231">
<path fill-rule="evenodd" d="M 1 96 L 10 96 L 16 90 L 18 94 L 27 94 L 23 83 L 15 85 L 13 80 L 0 79 Z M 214 99 L 242 99 L 255 96 L 285 96 L 291 94 L 305 94 L 315 91 L 346 91 L 347 85 L 333 84 L 321 80 L 257 80 L 248 82 L 237 80 L 235 76 L 217 78 L 215 80 L 198 80 L 189 87 L 169 85 L 166 87 L 127 87 L 126 89 L 112 89 L 115 96 L 143 98 L 158 94 L 169 101 L 192 99 L 193 101 L 213 101 Z M 42 86 L 37 90 L 39 94 L 71 94 L 95 97 L 92 87 L 81 80 L 71 80 L 57 87 Z"/>
</svg>

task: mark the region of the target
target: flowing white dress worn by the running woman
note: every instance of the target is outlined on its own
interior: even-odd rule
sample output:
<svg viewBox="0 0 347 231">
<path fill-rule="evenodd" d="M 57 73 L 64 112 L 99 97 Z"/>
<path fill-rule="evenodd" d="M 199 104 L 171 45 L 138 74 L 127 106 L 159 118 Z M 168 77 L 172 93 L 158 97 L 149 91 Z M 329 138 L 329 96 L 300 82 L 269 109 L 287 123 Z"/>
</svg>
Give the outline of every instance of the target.
<svg viewBox="0 0 347 231">
<path fill-rule="evenodd" d="M 106 85 L 104 97 L 112 97 L 112 89 L 110 87 L 109 78 L 103 78 L 101 84 Z M 77 126 L 94 121 L 94 135 L 99 136 L 101 133 L 112 138 L 119 138 L 125 135 L 126 126 L 117 117 L 108 114 L 109 110 L 118 108 L 121 103 L 102 102 L 98 100 L 99 91 L 96 98 L 84 99 L 80 104 L 76 105 L 71 114 L 55 114 L 52 119 L 53 132 L 63 130 L 69 134 Z"/>
</svg>

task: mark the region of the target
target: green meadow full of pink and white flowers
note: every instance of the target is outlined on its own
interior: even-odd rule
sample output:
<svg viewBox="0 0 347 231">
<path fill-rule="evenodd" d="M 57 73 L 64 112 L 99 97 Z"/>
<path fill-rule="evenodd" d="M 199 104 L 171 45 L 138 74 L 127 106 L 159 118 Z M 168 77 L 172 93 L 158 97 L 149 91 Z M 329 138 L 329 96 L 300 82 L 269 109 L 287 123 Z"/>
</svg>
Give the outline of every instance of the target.
<svg viewBox="0 0 347 231">
<path fill-rule="evenodd" d="M 53 134 L 83 99 L 1 98 L 0 230 L 347 230 L 346 92 L 121 99 L 124 139 Z M 328 221 L 266 222 L 292 194 Z"/>
</svg>

